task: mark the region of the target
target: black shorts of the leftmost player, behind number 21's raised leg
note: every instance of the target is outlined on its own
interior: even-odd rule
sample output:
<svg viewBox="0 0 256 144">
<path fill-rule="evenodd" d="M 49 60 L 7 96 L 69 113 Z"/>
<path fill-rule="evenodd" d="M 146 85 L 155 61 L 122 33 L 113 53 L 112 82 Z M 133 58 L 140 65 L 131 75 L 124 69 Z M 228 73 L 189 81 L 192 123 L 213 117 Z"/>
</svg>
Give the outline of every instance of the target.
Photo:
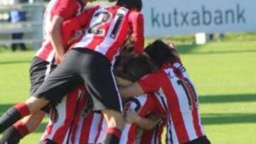
<svg viewBox="0 0 256 144">
<path fill-rule="evenodd" d="M 53 64 L 54 62 L 47 62 L 46 60 L 41 60 L 39 57 L 34 57 L 31 62 L 31 67 L 29 70 L 31 88 L 30 96 L 34 95 L 36 90 L 43 84 L 46 77 L 52 72 L 57 65 Z M 42 111 L 48 113 L 50 111 L 50 104 L 44 106 Z"/>
</svg>

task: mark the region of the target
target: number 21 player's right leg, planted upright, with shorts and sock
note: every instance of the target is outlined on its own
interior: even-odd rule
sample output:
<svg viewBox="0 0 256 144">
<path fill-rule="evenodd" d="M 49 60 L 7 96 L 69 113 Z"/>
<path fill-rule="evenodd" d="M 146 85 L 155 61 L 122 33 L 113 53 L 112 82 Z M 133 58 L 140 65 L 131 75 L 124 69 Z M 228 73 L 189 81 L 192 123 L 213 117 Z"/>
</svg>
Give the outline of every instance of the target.
<svg viewBox="0 0 256 144">
<path fill-rule="evenodd" d="M 81 77 L 92 96 L 95 111 L 102 111 L 106 118 L 108 129 L 105 143 L 119 143 L 124 128 L 122 115 L 122 99 L 114 80 L 112 65 L 105 56 L 98 52 L 82 50 L 85 54 L 82 60 Z"/>
</svg>

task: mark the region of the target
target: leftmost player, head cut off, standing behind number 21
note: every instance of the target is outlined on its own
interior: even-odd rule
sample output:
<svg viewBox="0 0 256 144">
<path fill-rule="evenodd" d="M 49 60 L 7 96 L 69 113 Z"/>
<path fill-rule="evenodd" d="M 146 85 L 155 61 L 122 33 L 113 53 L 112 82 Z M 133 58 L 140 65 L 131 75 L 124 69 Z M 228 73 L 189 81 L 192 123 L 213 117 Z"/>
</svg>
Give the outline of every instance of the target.
<svg viewBox="0 0 256 144">
<path fill-rule="evenodd" d="M 36 92 L 57 66 L 55 57 L 58 61 L 63 59 L 65 44 L 60 29 L 63 21 L 78 16 L 88 1 L 92 0 L 52 0 L 48 4 L 43 17 L 43 43 L 31 62 L 30 95 Z M 48 106 L 45 106 L 42 111 L 37 111 L 15 123 L 4 133 L 0 143 L 18 143 L 21 138 L 38 127 L 47 111 Z"/>
</svg>

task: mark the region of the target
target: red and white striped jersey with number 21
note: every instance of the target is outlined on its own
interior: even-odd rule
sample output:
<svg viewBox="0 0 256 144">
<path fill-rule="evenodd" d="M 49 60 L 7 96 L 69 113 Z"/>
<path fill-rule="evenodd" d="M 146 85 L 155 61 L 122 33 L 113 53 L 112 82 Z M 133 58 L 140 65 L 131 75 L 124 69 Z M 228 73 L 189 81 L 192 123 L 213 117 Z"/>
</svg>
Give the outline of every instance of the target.
<svg viewBox="0 0 256 144">
<path fill-rule="evenodd" d="M 95 6 L 63 27 L 70 34 L 78 28 L 86 28 L 85 34 L 71 48 L 95 50 L 112 63 L 129 36 L 134 40 L 134 51 L 139 54 L 144 51 L 144 18 L 138 11 L 120 6 Z"/>
</svg>

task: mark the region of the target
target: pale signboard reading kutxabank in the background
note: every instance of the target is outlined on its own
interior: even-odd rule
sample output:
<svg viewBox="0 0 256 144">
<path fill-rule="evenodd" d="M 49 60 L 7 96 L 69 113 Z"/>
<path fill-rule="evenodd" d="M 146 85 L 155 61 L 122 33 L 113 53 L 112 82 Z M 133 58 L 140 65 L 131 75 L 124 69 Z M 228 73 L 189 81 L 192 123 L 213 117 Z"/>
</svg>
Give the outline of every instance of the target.
<svg viewBox="0 0 256 144">
<path fill-rule="evenodd" d="M 256 0 L 143 0 L 145 35 L 256 31 Z"/>
</svg>

